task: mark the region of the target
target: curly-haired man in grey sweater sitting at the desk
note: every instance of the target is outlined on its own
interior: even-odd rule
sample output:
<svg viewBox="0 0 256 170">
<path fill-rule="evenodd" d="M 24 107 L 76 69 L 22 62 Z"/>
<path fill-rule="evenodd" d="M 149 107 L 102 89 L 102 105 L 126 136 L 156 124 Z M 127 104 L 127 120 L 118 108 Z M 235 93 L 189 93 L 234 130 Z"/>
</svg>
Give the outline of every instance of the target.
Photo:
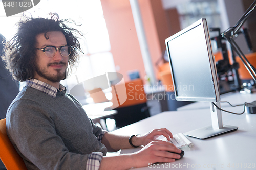
<svg viewBox="0 0 256 170">
<path fill-rule="evenodd" d="M 81 104 L 60 84 L 78 58 L 76 29 L 57 14 L 51 19 L 19 22 L 15 37 L 6 44 L 4 60 L 15 79 L 26 86 L 11 103 L 7 134 L 28 169 L 129 169 L 148 163 L 173 162 L 181 153 L 169 142 L 167 129 L 140 136 L 118 136 L 92 123 Z M 139 152 L 106 157 L 106 152 L 144 145 Z"/>
</svg>

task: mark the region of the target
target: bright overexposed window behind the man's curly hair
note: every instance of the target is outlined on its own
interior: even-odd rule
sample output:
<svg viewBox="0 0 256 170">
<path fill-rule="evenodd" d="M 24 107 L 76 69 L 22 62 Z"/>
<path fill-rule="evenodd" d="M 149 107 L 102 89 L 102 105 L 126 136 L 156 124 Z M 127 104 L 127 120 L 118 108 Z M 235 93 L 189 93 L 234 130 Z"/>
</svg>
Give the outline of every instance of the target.
<svg viewBox="0 0 256 170">
<path fill-rule="evenodd" d="M 1 11 L 4 11 L 4 9 Z M 66 80 L 61 81 L 67 87 L 68 92 L 78 82 L 105 74 L 105 72 L 115 72 L 114 60 L 110 52 L 108 30 L 106 29 L 100 0 L 40 1 L 38 5 L 27 12 L 30 12 L 34 17 L 56 12 L 60 19 L 70 18 L 76 23 L 82 24 L 81 27 L 76 28 L 84 35 L 79 39 L 84 54 L 80 54 L 79 66 L 74 69 L 73 74 Z M 1 13 L 1 15 L 2 23 L 6 23 L 6 25 L 0 28 L 0 33 L 10 39 L 16 32 L 16 27 L 13 28 L 13 25 L 22 14 L 11 17 L 5 17 L 5 13 Z"/>
</svg>

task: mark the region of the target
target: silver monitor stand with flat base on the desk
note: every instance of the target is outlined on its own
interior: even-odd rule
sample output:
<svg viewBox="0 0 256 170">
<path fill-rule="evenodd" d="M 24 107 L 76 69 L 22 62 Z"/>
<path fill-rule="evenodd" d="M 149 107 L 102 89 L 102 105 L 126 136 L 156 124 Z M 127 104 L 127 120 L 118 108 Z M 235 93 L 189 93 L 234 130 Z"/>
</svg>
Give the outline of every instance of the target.
<svg viewBox="0 0 256 170">
<path fill-rule="evenodd" d="M 218 107 L 221 107 L 220 102 L 215 102 Z M 222 116 L 221 110 L 217 109 L 214 104 L 210 102 L 210 110 L 211 110 L 211 126 L 199 128 L 193 131 L 189 131 L 184 133 L 184 135 L 196 137 L 199 139 L 206 139 L 212 136 L 236 131 L 238 129 L 237 126 L 229 126 L 222 124 Z"/>
</svg>

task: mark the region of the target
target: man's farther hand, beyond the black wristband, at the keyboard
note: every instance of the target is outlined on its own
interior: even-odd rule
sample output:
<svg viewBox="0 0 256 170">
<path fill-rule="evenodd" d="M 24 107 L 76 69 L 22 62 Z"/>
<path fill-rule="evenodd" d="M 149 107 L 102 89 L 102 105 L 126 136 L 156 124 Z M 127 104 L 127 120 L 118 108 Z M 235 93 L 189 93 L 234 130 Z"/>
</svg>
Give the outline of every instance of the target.
<svg viewBox="0 0 256 170">
<path fill-rule="evenodd" d="M 144 135 L 141 136 L 135 136 L 132 138 L 132 143 L 135 146 L 140 146 L 140 145 L 147 145 L 148 143 L 152 141 L 161 141 L 157 140 L 159 136 L 163 135 L 164 137 L 167 138 L 167 140 L 170 140 L 170 138 L 173 138 L 173 134 L 166 128 L 161 128 L 161 129 L 154 129 Z"/>
</svg>

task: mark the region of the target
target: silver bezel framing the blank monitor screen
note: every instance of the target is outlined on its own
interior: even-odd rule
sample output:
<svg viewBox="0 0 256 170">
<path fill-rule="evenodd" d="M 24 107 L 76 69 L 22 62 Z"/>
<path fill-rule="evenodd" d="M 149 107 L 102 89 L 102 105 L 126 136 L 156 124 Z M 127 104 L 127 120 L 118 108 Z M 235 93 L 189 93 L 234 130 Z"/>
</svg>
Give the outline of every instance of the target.
<svg viewBox="0 0 256 170">
<path fill-rule="evenodd" d="M 188 26 L 185 29 L 181 30 L 180 32 L 168 37 L 165 40 L 167 54 L 168 54 L 168 60 L 169 60 L 169 66 L 170 66 L 170 70 L 171 70 L 170 72 L 172 74 L 174 87 L 176 87 L 175 78 L 173 75 L 173 67 L 172 67 L 172 62 L 171 62 L 172 60 L 171 60 L 170 54 L 169 54 L 168 42 L 177 38 L 178 36 L 186 33 L 187 31 L 200 26 L 200 25 L 203 27 L 204 36 L 205 36 L 205 40 L 206 40 L 205 43 L 206 43 L 207 51 L 208 51 L 208 59 L 209 59 L 209 64 L 210 64 L 211 76 L 212 76 L 212 80 L 213 80 L 213 86 L 215 88 L 215 98 L 198 98 L 198 97 L 184 98 L 182 96 L 178 96 L 177 90 L 176 90 L 176 88 L 174 88 L 175 98 L 177 101 L 198 101 L 198 102 L 219 102 L 220 101 L 220 92 L 219 92 L 219 85 L 218 85 L 218 78 L 217 78 L 217 68 L 216 68 L 216 64 L 215 64 L 216 62 L 215 62 L 215 57 L 212 54 L 211 41 L 210 41 L 208 26 L 207 26 L 207 22 L 206 22 L 205 18 L 199 19 L 198 21 L 194 22 L 190 26 Z"/>
</svg>

